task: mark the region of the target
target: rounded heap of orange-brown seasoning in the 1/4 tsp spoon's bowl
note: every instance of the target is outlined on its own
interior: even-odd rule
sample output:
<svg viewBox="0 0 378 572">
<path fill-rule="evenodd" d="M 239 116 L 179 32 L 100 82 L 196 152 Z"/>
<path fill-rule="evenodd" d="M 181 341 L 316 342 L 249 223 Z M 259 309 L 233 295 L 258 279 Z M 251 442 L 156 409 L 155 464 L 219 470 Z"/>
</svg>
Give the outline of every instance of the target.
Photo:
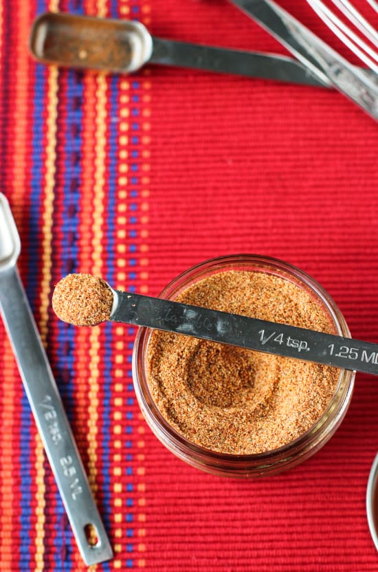
<svg viewBox="0 0 378 572">
<path fill-rule="evenodd" d="M 96 326 L 109 320 L 113 292 L 109 285 L 91 274 L 68 274 L 54 289 L 55 314 L 74 326 Z"/>
</svg>

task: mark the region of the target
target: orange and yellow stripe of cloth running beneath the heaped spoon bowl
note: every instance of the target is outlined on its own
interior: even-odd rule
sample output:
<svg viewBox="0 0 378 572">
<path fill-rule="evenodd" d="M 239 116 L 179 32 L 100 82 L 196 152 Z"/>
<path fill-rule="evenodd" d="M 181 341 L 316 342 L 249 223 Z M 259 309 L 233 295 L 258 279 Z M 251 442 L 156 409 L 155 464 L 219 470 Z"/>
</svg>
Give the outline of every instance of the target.
<svg viewBox="0 0 378 572">
<path fill-rule="evenodd" d="M 104 6 L 86 3 L 86 13 L 106 16 Z M 101 274 L 102 272 L 102 224 L 104 199 L 105 129 L 106 129 L 106 79 L 101 74 L 86 74 L 83 80 L 82 104 L 82 171 L 78 238 L 78 272 Z M 87 441 L 87 474 L 96 497 L 97 488 L 97 433 L 98 392 L 100 381 L 100 328 L 76 331 L 76 403 L 78 417 L 87 419 L 82 427 Z M 76 570 L 85 569 L 76 552 Z M 91 571 L 97 566 L 91 566 Z"/>
</svg>

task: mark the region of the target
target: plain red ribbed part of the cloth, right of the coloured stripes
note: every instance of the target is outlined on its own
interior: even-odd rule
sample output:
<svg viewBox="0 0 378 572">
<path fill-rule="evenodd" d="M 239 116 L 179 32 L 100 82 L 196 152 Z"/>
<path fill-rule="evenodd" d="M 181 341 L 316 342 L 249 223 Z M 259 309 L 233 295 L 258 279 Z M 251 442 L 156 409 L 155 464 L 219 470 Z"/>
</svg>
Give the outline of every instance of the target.
<svg viewBox="0 0 378 572">
<path fill-rule="evenodd" d="M 285 6 L 338 47 L 306 3 Z M 157 36 L 285 53 L 227 2 L 155 1 L 151 18 Z M 377 341 L 377 125 L 322 89 L 157 68 L 151 85 L 151 294 L 209 257 L 267 254 L 312 274 L 353 336 Z M 358 374 L 335 437 L 261 481 L 198 474 L 146 440 L 151 569 L 377 569 L 364 504 L 377 397 Z"/>
</svg>

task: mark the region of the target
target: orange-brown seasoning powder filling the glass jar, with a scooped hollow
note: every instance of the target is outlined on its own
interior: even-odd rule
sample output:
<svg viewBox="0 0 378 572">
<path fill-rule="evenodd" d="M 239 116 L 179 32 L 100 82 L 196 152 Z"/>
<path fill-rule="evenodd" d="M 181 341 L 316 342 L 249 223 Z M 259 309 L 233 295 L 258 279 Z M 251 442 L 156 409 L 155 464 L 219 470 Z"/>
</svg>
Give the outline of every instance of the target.
<svg viewBox="0 0 378 572">
<path fill-rule="evenodd" d="M 298 285 L 263 272 L 226 271 L 177 301 L 335 333 Z M 148 386 L 157 408 L 186 439 L 230 454 L 266 452 L 311 428 L 333 397 L 331 366 L 153 331 Z"/>
</svg>

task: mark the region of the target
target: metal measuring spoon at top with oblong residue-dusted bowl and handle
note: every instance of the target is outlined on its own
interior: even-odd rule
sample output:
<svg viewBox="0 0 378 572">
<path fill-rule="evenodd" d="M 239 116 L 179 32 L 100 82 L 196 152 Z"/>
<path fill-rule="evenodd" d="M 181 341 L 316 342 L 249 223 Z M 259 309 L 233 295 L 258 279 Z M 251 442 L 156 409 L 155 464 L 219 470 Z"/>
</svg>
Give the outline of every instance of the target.
<svg viewBox="0 0 378 572">
<path fill-rule="evenodd" d="M 204 69 L 318 87 L 293 58 L 155 38 L 135 21 L 46 12 L 32 25 L 30 52 L 37 61 L 65 67 L 131 73 L 146 63 Z"/>
</svg>

